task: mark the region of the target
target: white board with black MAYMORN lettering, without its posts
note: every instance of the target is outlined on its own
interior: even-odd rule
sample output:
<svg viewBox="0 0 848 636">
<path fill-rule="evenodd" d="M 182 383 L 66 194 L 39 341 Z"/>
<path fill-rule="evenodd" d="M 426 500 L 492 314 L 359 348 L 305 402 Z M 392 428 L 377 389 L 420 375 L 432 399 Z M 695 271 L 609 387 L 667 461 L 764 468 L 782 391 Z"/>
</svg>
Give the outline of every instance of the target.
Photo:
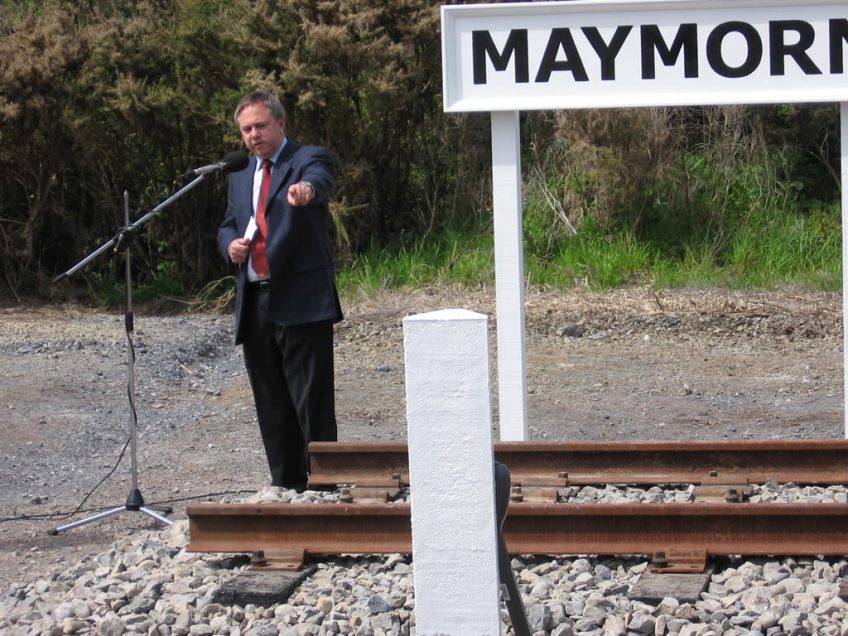
<svg viewBox="0 0 848 636">
<path fill-rule="evenodd" d="M 447 112 L 848 100 L 845 0 L 442 7 Z"/>
</svg>

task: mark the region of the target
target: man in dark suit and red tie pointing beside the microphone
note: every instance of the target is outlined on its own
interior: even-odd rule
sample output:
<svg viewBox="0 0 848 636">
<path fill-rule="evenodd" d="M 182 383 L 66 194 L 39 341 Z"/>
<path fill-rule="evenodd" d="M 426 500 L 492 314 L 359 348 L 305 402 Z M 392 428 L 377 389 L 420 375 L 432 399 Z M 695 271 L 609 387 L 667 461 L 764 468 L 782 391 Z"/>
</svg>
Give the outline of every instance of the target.
<svg viewBox="0 0 848 636">
<path fill-rule="evenodd" d="M 342 319 L 330 249 L 333 159 L 286 137 L 286 113 L 256 91 L 235 121 L 253 154 L 230 175 L 218 250 L 238 266 L 236 344 L 256 405 L 271 484 L 302 491 L 307 446 L 336 441 L 333 323 Z"/>
</svg>

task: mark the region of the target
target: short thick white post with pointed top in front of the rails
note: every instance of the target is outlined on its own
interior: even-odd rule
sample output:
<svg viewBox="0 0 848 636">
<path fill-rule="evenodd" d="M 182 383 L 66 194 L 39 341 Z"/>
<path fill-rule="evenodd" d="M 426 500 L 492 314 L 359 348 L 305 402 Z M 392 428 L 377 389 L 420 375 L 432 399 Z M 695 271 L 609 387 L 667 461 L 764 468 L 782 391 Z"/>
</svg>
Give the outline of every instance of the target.
<svg viewBox="0 0 848 636">
<path fill-rule="evenodd" d="M 418 636 L 501 633 L 487 318 L 405 318 Z"/>
</svg>

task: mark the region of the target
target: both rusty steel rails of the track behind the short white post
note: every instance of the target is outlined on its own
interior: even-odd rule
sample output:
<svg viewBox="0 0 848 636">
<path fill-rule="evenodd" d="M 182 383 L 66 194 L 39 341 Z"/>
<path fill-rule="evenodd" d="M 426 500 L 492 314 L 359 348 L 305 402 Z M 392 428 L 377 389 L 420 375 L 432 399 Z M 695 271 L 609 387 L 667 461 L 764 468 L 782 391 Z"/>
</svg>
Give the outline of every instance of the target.
<svg viewBox="0 0 848 636">
<path fill-rule="evenodd" d="M 744 503 L 718 497 L 669 504 L 557 503 L 560 485 L 848 483 L 844 440 L 745 442 L 499 442 L 513 489 L 504 522 L 511 554 L 643 554 L 655 570 L 701 571 L 710 556 L 848 554 L 848 505 Z M 314 485 L 408 485 L 403 443 L 311 444 Z M 520 491 L 520 492 L 523 492 Z M 469 493 L 473 496 L 473 493 Z M 193 504 L 195 552 L 386 554 L 412 550 L 407 503 Z"/>
</svg>

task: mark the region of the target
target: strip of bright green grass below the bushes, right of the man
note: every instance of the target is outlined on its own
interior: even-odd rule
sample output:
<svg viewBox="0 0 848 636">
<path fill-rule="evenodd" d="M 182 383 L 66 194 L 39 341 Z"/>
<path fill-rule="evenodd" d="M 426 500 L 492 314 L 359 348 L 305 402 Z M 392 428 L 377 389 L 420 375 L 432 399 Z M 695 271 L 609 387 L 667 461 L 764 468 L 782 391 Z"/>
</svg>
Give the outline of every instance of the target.
<svg viewBox="0 0 848 636">
<path fill-rule="evenodd" d="M 838 291 L 842 286 L 839 211 L 751 214 L 727 229 L 726 238 L 698 239 L 669 253 L 631 232 L 583 233 L 539 247 L 525 240 L 528 284 L 553 289 L 628 285 L 656 288 L 718 286 L 768 289 L 800 286 Z M 468 286 L 494 282 L 491 230 L 443 235 L 399 249 L 372 248 L 339 272 L 342 293 L 373 295 L 389 288 L 439 283 Z"/>
</svg>

